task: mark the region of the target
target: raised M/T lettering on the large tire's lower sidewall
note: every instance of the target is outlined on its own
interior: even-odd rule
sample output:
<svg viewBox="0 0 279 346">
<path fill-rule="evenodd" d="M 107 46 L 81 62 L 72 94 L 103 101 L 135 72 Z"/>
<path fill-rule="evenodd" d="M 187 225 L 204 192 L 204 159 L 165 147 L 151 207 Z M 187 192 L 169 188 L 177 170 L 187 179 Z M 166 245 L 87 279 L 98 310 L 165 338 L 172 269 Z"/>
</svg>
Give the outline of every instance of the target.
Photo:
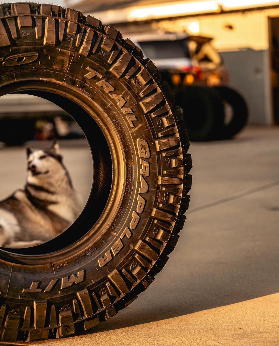
<svg viewBox="0 0 279 346">
<path fill-rule="evenodd" d="M 64 276 L 61 278 L 57 279 L 52 279 L 49 281 L 49 283 L 46 285 L 45 288 L 40 287 L 41 281 L 32 281 L 29 288 L 24 288 L 22 290 L 23 293 L 37 293 L 37 292 L 49 292 L 51 291 L 57 281 L 61 280 L 61 289 L 70 287 L 73 284 L 80 283 L 85 280 L 85 269 L 82 269 L 77 272 L 77 274 L 72 274 L 70 277 L 69 276 Z"/>
</svg>

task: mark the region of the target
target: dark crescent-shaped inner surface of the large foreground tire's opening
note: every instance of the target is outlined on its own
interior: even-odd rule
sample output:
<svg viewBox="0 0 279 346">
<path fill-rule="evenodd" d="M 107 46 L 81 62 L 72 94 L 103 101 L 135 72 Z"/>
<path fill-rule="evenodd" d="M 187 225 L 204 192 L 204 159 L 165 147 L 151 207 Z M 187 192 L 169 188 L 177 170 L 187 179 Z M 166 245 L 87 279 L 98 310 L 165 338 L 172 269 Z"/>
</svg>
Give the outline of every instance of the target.
<svg viewBox="0 0 279 346">
<path fill-rule="evenodd" d="M 112 158 L 109 144 L 92 116 L 80 104 L 68 97 L 45 90 L 8 91 L 8 93 L 30 94 L 57 104 L 81 127 L 91 149 L 94 166 L 92 190 L 83 211 L 74 223 L 57 237 L 35 247 L 1 248 L 3 250 L 1 253 L 19 255 L 42 255 L 57 252 L 83 237 L 94 226 L 105 209 L 112 185 Z"/>
</svg>

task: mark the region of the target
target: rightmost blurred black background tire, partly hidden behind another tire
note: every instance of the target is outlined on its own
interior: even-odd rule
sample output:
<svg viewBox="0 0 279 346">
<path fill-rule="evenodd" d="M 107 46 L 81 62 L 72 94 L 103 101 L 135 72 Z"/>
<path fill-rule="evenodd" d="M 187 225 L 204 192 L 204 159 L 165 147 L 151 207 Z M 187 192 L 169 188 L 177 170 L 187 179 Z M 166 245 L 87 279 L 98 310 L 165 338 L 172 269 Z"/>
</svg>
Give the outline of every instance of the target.
<svg viewBox="0 0 279 346">
<path fill-rule="evenodd" d="M 231 108 L 231 115 L 228 120 L 224 117 L 224 128 L 220 132 L 220 139 L 229 139 L 239 133 L 247 124 L 248 108 L 243 97 L 234 89 L 227 86 L 215 86 L 214 89 L 220 95 L 226 112 L 226 105 Z"/>
</svg>

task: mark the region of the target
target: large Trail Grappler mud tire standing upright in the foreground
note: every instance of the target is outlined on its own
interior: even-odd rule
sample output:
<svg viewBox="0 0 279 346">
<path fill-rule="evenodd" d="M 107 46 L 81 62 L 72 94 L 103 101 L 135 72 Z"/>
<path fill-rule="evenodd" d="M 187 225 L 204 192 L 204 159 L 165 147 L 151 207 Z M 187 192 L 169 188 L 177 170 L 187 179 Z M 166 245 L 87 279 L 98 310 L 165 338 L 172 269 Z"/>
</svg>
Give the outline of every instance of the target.
<svg viewBox="0 0 279 346">
<path fill-rule="evenodd" d="M 158 70 L 117 30 L 50 4 L 1 4 L 0 16 L 1 95 L 57 103 L 92 150 L 92 191 L 74 224 L 48 243 L 0 249 L 0 338 L 59 338 L 115 315 L 165 265 L 189 204 L 189 143 Z"/>
</svg>

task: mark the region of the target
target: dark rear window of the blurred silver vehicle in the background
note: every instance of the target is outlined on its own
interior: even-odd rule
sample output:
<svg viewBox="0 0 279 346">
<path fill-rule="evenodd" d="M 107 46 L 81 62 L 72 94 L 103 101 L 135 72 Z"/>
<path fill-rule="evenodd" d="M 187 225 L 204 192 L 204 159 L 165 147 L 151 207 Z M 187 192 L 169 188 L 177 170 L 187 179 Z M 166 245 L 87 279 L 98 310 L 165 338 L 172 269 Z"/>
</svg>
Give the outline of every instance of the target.
<svg viewBox="0 0 279 346">
<path fill-rule="evenodd" d="M 189 58 L 189 48 L 184 40 L 140 42 L 144 54 L 150 59 Z"/>
</svg>

